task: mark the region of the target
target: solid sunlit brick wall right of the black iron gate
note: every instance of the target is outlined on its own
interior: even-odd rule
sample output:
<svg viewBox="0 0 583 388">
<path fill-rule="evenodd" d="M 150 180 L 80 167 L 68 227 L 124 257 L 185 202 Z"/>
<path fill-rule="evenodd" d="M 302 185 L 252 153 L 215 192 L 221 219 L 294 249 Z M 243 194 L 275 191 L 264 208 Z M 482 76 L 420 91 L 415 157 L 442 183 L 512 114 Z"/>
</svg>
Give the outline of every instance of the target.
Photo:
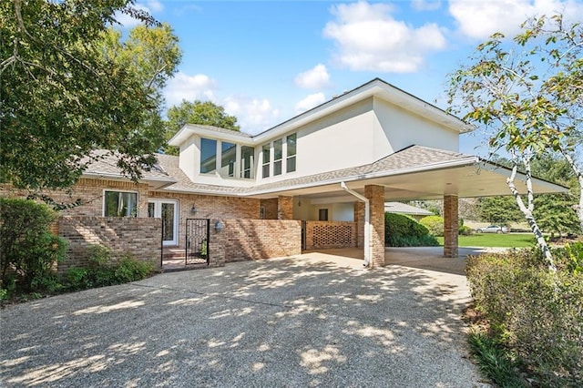
<svg viewBox="0 0 583 388">
<path fill-rule="evenodd" d="M 225 230 L 220 234 L 227 262 L 302 253 L 302 221 L 231 219 L 223 222 Z"/>
</svg>

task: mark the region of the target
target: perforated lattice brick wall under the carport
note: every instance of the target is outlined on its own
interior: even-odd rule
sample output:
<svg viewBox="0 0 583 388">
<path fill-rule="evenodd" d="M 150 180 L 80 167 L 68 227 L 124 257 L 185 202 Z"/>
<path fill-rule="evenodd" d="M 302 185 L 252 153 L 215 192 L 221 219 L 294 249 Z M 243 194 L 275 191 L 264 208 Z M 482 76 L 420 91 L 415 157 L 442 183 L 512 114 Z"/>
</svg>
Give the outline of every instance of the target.
<svg viewBox="0 0 583 388">
<path fill-rule="evenodd" d="M 347 221 L 306 221 L 306 250 L 356 247 L 356 226 Z"/>
</svg>

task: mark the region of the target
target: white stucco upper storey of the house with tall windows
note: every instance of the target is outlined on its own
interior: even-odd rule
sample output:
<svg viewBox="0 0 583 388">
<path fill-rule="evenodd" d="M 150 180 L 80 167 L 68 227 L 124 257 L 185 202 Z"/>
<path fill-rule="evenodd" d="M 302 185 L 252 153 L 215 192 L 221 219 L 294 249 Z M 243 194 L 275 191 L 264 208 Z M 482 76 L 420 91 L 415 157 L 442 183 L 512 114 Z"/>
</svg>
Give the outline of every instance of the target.
<svg viewBox="0 0 583 388">
<path fill-rule="evenodd" d="M 170 139 L 197 183 L 251 187 L 373 163 L 401 149 L 458 151 L 457 117 L 380 79 L 258 135 L 186 125 Z"/>
</svg>

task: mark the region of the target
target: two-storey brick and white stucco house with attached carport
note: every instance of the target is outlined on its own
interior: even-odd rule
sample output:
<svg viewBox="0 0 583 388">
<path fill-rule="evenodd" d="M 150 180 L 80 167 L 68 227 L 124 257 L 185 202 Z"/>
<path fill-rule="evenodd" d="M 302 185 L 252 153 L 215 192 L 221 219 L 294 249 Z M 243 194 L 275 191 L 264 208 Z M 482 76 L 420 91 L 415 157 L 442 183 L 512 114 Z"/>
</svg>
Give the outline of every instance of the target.
<svg viewBox="0 0 583 388">
<path fill-rule="evenodd" d="M 102 217 L 161 220 L 167 250 L 188 257 L 194 244 L 218 254 L 217 265 L 355 246 L 377 266 L 384 265 L 385 201 L 443 199 L 444 255 L 453 257 L 457 199 L 508 193 L 508 169 L 459 153 L 459 136 L 470 130 L 375 78 L 257 135 L 186 125 L 169 140 L 179 157 L 160 155 L 137 184 L 120 175 L 115 159 L 99 160 L 73 190 L 83 205 L 65 215 L 96 225 Z M 538 193 L 565 190 L 540 179 L 533 185 Z M 192 219 L 210 220 L 206 235 L 192 234 Z M 96 225 L 73 229 L 118 228 Z"/>
</svg>

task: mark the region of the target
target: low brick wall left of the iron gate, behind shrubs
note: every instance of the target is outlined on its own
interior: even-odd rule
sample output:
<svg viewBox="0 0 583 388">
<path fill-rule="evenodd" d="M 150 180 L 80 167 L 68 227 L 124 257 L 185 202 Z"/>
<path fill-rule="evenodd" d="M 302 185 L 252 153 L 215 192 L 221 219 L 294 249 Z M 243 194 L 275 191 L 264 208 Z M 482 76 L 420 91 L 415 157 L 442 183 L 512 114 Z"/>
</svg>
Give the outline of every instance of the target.
<svg viewBox="0 0 583 388">
<path fill-rule="evenodd" d="M 68 242 L 66 260 L 58 264 L 64 273 L 74 266 L 87 266 L 88 247 L 102 245 L 114 250 L 119 258 L 124 253 L 138 260 L 150 261 L 160 270 L 161 220 L 119 217 L 61 217 L 58 234 Z"/>
</svg>

